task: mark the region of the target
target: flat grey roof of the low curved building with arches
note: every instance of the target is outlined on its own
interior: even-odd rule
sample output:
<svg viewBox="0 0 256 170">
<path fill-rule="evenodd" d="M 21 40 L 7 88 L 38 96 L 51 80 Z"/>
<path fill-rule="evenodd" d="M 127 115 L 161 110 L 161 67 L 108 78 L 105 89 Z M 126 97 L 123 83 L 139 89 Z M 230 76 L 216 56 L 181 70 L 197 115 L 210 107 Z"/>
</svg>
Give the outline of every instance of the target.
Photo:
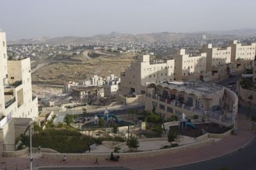
<svg viewBox="0 0 256 170">
<path fill-rule="evenodd" d="M 147 87 L 150 88 L 154 86 L 177 89 L 179 91 L 185 91 L 188 93 L 200 92 L 204 94 L 215 94 L 224 88 L 221 85 L 204 81 L 160 81 L 156 83 L 148 83 Z"/>
</svg>

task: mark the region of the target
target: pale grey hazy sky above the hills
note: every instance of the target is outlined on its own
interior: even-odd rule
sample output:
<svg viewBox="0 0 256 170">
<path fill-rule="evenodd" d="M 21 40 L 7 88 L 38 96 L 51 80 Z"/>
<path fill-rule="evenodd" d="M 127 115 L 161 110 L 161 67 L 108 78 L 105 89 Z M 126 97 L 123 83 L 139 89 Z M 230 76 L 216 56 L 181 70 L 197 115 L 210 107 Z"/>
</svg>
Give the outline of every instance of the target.
<svg viewBox="0 0 256 170">
<path fill-rule="evenodd" d="M 8 40 L 256 27 L 255 0 L 0 0 Z"/>
</svg>

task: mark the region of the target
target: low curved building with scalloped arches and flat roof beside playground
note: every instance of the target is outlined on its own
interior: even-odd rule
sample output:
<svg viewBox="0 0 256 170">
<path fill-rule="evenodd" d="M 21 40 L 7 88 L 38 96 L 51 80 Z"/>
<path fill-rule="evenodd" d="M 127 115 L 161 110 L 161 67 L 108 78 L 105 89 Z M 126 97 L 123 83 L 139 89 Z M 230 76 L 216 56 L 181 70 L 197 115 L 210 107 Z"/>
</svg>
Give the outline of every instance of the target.
<svg viewBox="0 0 256 170">
<path fill-rule="evenodd" d="M 238 97 L 232 90 L 203 81 L 161 81 L 147 84 L 145 108 L 163 117 L 209 118 L 229 127 L 236 125 Z"/>
</svg>

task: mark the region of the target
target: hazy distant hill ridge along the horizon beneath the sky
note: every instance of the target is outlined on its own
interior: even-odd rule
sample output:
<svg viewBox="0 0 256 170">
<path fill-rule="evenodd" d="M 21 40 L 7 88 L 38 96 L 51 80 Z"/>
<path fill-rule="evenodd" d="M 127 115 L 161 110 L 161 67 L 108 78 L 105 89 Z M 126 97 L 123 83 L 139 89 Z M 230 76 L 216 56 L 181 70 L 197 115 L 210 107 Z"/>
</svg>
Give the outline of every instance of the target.
<svg viewBox="0 0 256 170">
<path fill-rule="evenodd" d="M 211 31 L 211 32 L 190 32 L 190 33 L 176 33 L 176 32 L 157 32 L 150 34 L 122 34 L 119 32 L 111 32 L 111 34 L 99 34 L 91 37 L 78 36 L 63 36 L 57 38 L 33 38 L 20 39 L 17 41 L 8 41 L 8 45 L 18 44 L 59 44 L 59 45 L 90 45 L 90 44 L 106 44 L 106 43 L 154 43 L 157 41 L 173 41 L 202 39 L 205 35 L 207 39 L 236 39 L 241 36 L 256 36 L 256 29 L 237 29 L 232 31 Z"/>
</svg>

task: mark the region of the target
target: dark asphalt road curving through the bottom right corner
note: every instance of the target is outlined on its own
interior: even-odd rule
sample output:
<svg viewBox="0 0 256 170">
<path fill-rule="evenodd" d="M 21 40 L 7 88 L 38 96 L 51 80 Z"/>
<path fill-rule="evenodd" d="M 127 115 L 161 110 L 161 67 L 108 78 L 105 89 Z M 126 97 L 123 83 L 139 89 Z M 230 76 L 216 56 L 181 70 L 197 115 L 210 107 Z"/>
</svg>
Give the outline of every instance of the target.
<svg viewBox="0 0 256 170">
<path fill-rule="evenodd" d="M 200 162 L 198 164 L 192 164 L 189 166 L 182 166 L 176 168 L 167 168 L 172 170 L 221 170 L 221 167 L 227 166 L 229 170 L 253 170 L 256 169 L 255 166 L 256 157 L 256 140 L 254 139 L 252 143 L 247 145 L 240 151 L 230 153 L 225 157 L 218 159 L 212 159 L 205 162 Z"/>
</svg>

